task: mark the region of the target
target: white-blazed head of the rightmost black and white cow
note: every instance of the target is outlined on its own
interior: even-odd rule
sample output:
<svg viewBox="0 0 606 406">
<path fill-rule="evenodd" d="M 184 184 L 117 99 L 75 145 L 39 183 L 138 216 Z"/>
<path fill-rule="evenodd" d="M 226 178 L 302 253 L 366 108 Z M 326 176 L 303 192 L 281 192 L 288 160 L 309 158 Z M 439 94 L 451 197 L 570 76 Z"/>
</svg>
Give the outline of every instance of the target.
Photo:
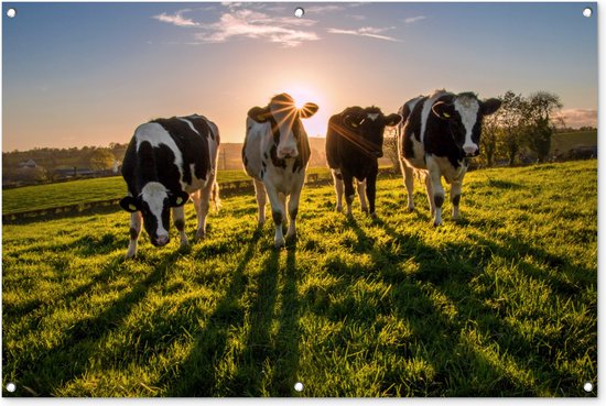
<svg viewBox="0 0 606 406">
<path fill-rule="evenodd" d="M 448 121 L 451 133 L 457 146 L 466 156 L 479 155 L 479 139 L 484 116 L 493 114 L 500 107 L 499 99 L 480 101 L 470 92 L 456 95 L 452 101 L 437 101 L 432 111 Z"/>
</svg>

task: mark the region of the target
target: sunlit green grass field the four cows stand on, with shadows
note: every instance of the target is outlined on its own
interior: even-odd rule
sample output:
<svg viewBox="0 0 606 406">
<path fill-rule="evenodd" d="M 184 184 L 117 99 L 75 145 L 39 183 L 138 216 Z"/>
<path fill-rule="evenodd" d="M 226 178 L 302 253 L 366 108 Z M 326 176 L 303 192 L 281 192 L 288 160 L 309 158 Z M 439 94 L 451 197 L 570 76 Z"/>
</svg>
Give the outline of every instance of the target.
<svg viewBox="0 0 606 406">
<path fill-rule="evenodd" d="M 441 228 L 403 196 L 306 188 L 279 252 L 252 195 L 134 261 L 126 212 L 3 226 L 3 396 L 595 397 L 597 162 L 469 173 Z"/>
</svg>

